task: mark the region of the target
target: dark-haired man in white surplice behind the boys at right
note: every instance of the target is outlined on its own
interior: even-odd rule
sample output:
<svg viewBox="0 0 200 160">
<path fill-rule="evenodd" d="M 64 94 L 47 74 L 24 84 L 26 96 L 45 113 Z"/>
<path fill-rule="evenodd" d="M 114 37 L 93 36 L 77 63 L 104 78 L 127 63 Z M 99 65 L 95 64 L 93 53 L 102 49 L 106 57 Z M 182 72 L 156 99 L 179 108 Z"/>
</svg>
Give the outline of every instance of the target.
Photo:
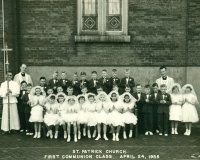
<svg viewBox="0 0 200 160">
<path fill-rule="evenodd" d="M 156 80 L 156 83 L 158 84 L 159 89 L 162 84 L 165 84 L 167 86 L 166 92 L 169 93 L 171 86 L 174 84 L 174 79 L 167 76 L 167 67 L 166 66 L 160 67 L 160 73 L 161 73 L 161 77 Z"/>
</svg>

